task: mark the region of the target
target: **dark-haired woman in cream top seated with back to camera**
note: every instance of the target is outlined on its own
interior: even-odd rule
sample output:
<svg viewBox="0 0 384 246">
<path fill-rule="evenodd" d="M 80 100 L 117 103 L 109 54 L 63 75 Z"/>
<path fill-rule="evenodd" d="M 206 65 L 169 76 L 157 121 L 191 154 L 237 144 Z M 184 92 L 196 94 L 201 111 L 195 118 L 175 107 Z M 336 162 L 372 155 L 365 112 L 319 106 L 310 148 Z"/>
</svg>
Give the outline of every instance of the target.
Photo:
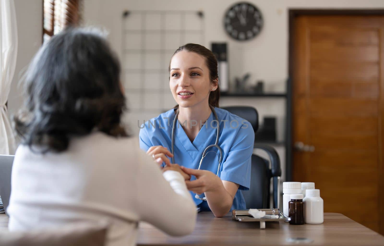
<svg viewBox="0 0 384 246">
<path fill-rule="evenodd" d="M 120 66 L 97 30 L 70 29 L 40 48 L 25 76 L 9 229 L 109 223 L 108 245 L 134 245 L 137 222 L 193 231 L 195 204 L 177 165 L 162 171 L 121 126 Z M 182 173 L 182 174 L 181 174 Z"/>
</svg>

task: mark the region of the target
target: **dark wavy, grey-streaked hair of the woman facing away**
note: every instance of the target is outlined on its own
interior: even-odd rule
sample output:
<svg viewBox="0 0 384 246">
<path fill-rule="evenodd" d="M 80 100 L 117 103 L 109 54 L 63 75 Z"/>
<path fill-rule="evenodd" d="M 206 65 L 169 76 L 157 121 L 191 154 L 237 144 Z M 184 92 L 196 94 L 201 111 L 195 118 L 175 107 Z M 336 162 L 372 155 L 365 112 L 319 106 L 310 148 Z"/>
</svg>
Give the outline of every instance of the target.
<svg viewBox="0 0 384 246">
<path fill-rule="evenodd" d="M 120 65 L 100 31 L 70 28 L 36 53 L 25 74 L 26 100 L 13 117 L 22 144 L 67 150 L 72 136 L 127 136 Z"/>
</svg>

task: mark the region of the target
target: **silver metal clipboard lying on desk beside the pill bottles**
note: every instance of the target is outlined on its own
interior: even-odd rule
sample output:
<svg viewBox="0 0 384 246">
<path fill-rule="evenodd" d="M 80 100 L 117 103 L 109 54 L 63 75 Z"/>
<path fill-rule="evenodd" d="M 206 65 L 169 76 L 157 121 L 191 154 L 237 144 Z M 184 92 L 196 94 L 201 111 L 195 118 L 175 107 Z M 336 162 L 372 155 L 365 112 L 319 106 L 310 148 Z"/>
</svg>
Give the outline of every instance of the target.
<svg viewBox="0 0 384 246">
<path fill-rule="evenodd" d="M 286 217 L 280 213 L 280 209 L 272 208 L 272 209 L 259 209 L 260 211 L 265 211 L 265 214 L 276 214 L 279 218 L 270 219 L 270 218 L 253 218 L 253 216 L 249 213 L 248 209 L 233 209 L 232 210 L 232 219 L 240 222 L 260 222 L 260 229 L 265 229 L 265 222 L 270 221 L 285 221 Z"/>
</svg>

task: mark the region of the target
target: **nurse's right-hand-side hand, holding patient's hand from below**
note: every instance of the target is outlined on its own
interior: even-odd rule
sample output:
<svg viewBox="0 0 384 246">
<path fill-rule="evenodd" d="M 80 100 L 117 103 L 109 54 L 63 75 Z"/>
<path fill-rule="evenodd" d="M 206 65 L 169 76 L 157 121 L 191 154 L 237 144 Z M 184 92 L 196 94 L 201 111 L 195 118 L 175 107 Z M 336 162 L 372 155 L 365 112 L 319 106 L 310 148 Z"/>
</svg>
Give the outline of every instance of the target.
<svg viewBox="0 0 384 246">
<path fill-rule="evenodd" d="M 205 192 L 216 191 L 219 187 L 223 186 L 221 179 L 211 171 L 191 169 L 184 166 L 181 166 L 181 169 L 189 175 L 196 176 L 196 180 L 185 181 L 187 188 L 194 193 L 202 194 Z"/>
</svg>

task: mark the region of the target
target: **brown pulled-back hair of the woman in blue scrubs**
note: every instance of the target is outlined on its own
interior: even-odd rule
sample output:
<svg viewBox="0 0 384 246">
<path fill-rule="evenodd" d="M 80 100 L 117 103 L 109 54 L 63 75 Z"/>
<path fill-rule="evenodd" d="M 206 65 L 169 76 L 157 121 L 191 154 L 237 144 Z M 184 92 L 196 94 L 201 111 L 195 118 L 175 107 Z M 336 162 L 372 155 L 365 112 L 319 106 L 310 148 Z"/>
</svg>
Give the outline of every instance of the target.
<svg viewBox="0 0 384 246">
<path fill-rule="evenodd" d="M 209 78 L 210 81 L 214 81 L 215 79 L 218 80 L 218 73 L 217 73 L 217 60 L 209 49 L 205 48 L 202 45 L 198 45 L 196 43 L 187 43 L 186 45 L 180 46 L 175 53 L 173 53 L 172 57 L 176 54 L 179 53 L 180 51 L 185 50 L 188 52 L 194 52 L 197 53 L 205 58 L 205 63 L 207 64 L 208 70 L 209 70 Z M 172 60 L 172 57 L 170 60 Z M 168 71 L 170 71 L 170 62 L 168 66 Z M 208 103 L 211 106 L 218 107 L 218 100 L 220 97 L 220 88 L 217 82 L 217 89 L 215 91 L 211 91 L 209 93 L 209 99 Z M 179 105 L 176 105 L 175 108 L 177 108 Z"/>
</svg>

